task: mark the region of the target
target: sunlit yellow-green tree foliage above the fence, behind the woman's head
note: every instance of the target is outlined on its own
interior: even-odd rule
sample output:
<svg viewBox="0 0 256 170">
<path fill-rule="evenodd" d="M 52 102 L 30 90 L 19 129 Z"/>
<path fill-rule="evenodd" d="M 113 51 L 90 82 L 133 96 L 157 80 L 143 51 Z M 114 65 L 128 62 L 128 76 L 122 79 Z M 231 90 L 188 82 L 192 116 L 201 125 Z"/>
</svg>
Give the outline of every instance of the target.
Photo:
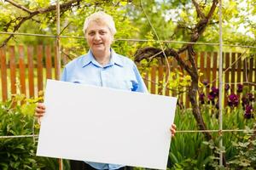
<svg viewBox="0 0 256 170">
<path fill-rule="evenodd" d="M 38 8 L 48 8 L 53 5 L 53 1 L 49 0 L 17 0 L 16 3 L 23 5 L 30 10 Z M 212 1 L 197 1 L 204 14 L 210 10 Z M 67 1 L 61 1 L 67 3 Z M 155 31 L 161 40 L 189 41 L 191 32 L 195 28 L 196 22 L 199 20 L 195 12 L 195 7 L 191 1 L 183 0 L 148 0 L 142 1 L 143 9 L 148 15 L 148 19 L 154 26 Z M 148 32 L 153 29 L 148 24 L 148 19 L 143 13 L 140 1 L 134 0 L 128 3 L 126 0 L 112 1 L 89 1 L 84 0 L 78 6 L 68 8 L 65 12 L 61 12 L 61 35 L 66 36 L 84 36 L 82 32 L 84 18 L 89 14 L 104 10 L 108 14 L 112 14 L 116 21 L 118 34 L 116 38 L 148 38 Z M 255 0 L 238 0 L 223 1 L 223 37 L 224 43 L 238 43 L 243 45 L 255 45 Z M 20 16 L 26 16 L 27 13 L 20 8 L 16 8 L 7 2 L 0 2 L 0 31 L 13 31 L 15 23 L 18 23 Z M 15 22 L 9 24 L 13 20 Z M 38 14 L 27 20 L 18 30 L 25 33 L 39 33 L 46 35 L 55 35 L 55 11 L 47 14 Z M 6 36 L 0 37 L 0 42 Z M 153 38 L 156 36 L 153 34 Z M 218 10 L 213 14 L 210 24 L 207 26 L 200 42 L 218 42 Z M 24 37 L 15 36 L 15 41 L 9 43 L 29 43 L 29 44 L 52 44 L 55 38 L 49 37 Z M 84 39 L 78 38 L 61 38 L 61 45 L 64 49 L 68 49 L 73 57 L 84 54 L 88 47 Z M 172 48 L 180 48 L 181 43 L 169 43 Z M 159 47 L 159 44 L 155 44 Z M 85 48 L 85 49 L 84 49 Z M 120 54 L 131 57 L 132 52 L 137 48 L 131 42 L 115 42 L 113 48 Z M 196 46 L 201 50 L 218 50 L 217 46 Z M 242 48 L 232 48 L 241 51 Z M 230 50 L 230 47 L 224 48 Z M 251 49 L 253 50 L 253 49 Z"/>
</svg>

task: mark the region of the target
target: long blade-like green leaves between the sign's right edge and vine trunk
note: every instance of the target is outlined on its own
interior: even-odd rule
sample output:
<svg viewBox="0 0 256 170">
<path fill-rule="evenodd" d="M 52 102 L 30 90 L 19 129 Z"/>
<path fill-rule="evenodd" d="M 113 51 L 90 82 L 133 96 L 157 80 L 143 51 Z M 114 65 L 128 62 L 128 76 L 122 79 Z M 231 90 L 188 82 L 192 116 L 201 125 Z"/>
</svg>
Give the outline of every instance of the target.
<svg viewBox="0 0 256 170">
<path fill-rule="evenodd" d="M 207 114 L 204 114 L 207 117 Z M 175 124 L 178 130 L 196 130 L 197 125 L 191 110 L 177 108 Z M 202 133 L 177 133 L 172 139 L 168 167 L 171 169 L 205 169 L 212 151 L 202 144 Z"/>
</svg>

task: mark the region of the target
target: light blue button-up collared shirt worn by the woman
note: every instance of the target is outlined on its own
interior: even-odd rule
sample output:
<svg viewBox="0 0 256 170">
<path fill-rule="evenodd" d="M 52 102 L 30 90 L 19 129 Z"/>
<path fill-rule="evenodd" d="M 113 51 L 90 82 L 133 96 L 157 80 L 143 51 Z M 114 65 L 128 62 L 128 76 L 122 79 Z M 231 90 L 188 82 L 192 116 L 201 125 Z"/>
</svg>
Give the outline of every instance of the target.
<svg viewBox="0 0 256 170">
<path fill-rule="evenodd" d="M 91 51 L 69 62 L 62 73 L 61 81 L 89 84 L 107 88 L 148 93 L 134 62 L 111 49 L 108 65 L 100 65 Z M 85 161 L 96 169 L 118 169 L 123 165 Z"/>
</svg>

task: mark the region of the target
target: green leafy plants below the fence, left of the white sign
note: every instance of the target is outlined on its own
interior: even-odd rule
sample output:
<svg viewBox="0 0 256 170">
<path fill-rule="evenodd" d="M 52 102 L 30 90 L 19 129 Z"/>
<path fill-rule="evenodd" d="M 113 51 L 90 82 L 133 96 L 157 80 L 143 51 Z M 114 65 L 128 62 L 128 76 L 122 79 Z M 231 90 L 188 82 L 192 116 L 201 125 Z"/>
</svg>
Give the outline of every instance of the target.
<svg viewBox="0 0 256 170">
<path fill-rule="evenodd" d="M 38 124 L 34 124 L 36 102 L 41 100 L 26 99 L 17 94 L 12 100 L 0 102 L 0 136 L 38 134 Z M 36 156 L 37 140 L 27 138 L 0 139 L 0 169 L 47 169 L 58 167 L 57 159 Z M 64 161 L 64 169 L 69 163 Z"/>
</svg>

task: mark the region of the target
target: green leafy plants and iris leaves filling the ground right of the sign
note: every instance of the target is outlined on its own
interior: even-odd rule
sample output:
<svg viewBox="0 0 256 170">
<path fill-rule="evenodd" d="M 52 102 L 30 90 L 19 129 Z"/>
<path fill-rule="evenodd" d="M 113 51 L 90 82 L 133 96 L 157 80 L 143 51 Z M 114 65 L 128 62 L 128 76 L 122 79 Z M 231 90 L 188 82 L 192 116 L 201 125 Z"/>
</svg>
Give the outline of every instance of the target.
<svg viewBox="0 0 256 170">
<path fill-rule="evenodd" d="M 212 105 L 202 105 L 201 113 L 208 129 L 218 129 L 218 111 Z M 233 111 L 224 111 L 224 129 L 252 129 L 253 119 L 245 119 L 241 107 Z M 197 123 L 190 109 L 177 108 L 175 116 L 177 130 L 196 130 Z M 213 139 L 205 141 L 202 133 L 177 133 L 172 139 L 168 167 L 170 169 L 224 169 L 218 166 L 218 154 L 222 151 L 230 167 L 241 160 L 255 166 L 255 139 L 248 138 L 241 132 L 223 134 L 224 148 L 218 147 L 218 133 L 212 133 Z M 251 136 L 252 137 L 252 133 Z M 249 143 L 248 143 L 249 142 Z M 250 144 L 251 147 L 247 147 Z M 246 151 L 245 151 L 246 150 Z M 243 156 L 246 156 L 244 158 Z M 232 164 L 232 165 L 231 165 Z M 239 165 L 241 166 L 241 165 Z M 227 168 L 227 167 L 225 167 Z M 233 168 L 233 169 L 234 169 Z M 230 168 L 232 169 L 232 168 Z M 240 168 L 235 168 L 240 169 Z"/>
</svg>

